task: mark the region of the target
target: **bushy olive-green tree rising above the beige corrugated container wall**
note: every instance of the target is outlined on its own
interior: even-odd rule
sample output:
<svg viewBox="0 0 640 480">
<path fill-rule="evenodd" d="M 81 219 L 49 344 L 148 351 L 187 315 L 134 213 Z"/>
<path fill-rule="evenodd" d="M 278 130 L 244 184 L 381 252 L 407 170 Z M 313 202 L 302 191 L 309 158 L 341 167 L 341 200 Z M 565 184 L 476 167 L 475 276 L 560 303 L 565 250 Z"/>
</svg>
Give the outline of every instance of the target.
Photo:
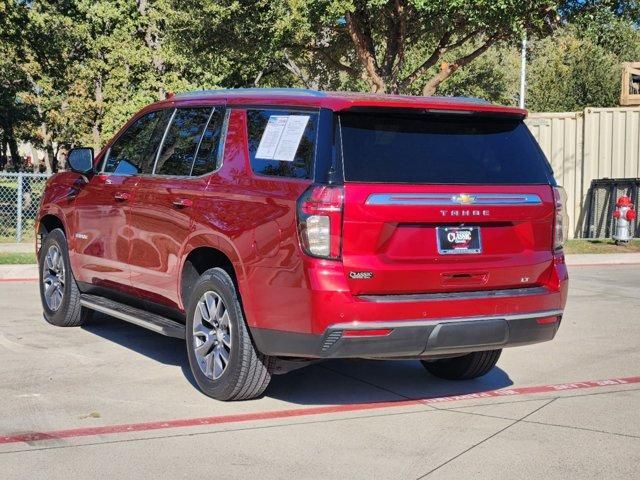
<svg viewBox="0 0 640 480">
<path fill-rule="evenodd" d="M 537 111 L 614 107 L 622 62 L 640 60 L 638 2 L 569 2 L 567 24 L 534 42 L 528 106 Z M 634 10 L 635 9 L 635 10 Z"/>
</svg>

